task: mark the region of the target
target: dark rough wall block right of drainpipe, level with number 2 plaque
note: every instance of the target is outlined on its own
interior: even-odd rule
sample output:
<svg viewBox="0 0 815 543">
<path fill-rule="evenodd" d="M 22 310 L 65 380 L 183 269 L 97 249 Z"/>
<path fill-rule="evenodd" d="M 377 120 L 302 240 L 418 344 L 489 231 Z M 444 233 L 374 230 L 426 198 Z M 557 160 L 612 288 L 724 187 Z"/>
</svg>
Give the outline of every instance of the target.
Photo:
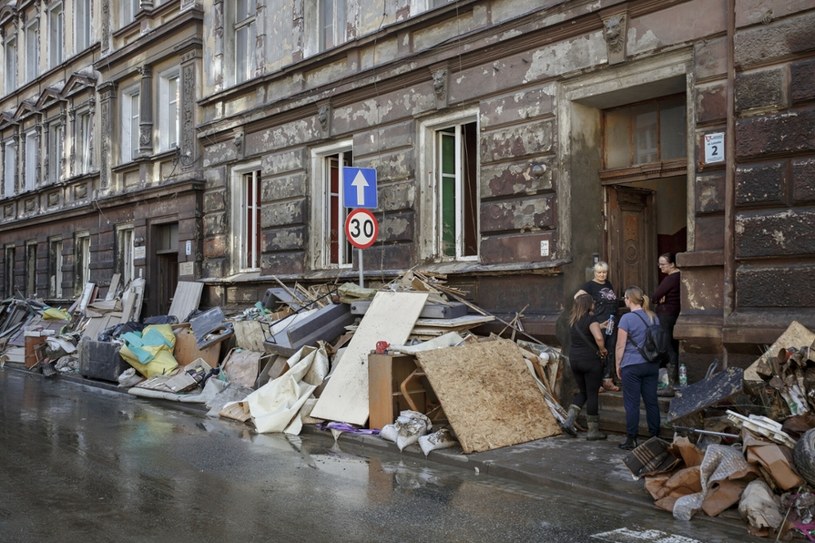
<svg viewBox="0 0 815 543">
<path fill-rule="evenodd" d="M 813 126 L 813 110 L 739 119 L 736 121 L 736 157 L 815 151 Z"/>
</svg>

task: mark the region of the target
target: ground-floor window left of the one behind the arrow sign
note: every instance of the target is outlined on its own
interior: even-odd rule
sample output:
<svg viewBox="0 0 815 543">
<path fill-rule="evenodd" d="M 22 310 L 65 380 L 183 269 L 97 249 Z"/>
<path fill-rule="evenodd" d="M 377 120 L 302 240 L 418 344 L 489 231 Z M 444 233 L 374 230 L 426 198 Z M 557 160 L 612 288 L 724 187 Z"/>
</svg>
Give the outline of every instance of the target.
<svg viewBox="0 0 815 543">
<path fill-rule="evenodd" d="M 260 269 L 260 170 L 259 164 L 236 170 L 232 175 L 232 255 L 236 271 Z"/>
</svg>

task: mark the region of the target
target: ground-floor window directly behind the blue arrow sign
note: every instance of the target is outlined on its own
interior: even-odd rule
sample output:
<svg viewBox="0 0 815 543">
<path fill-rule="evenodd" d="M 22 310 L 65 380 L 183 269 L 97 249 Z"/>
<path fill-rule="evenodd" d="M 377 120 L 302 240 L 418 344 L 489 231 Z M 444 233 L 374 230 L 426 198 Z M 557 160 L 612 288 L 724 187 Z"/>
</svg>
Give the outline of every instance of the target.
<svg viewBox="0 0 815 543">
<path fill-rule="evenodd" d="M 316 149 L 312 154 L 314 196 L 312 236 L 313 265 L 319 268 L 350 267 L 351 244 L 345 236 L 342 168 L 353 164 L 351 142 Z"/>
</svg>

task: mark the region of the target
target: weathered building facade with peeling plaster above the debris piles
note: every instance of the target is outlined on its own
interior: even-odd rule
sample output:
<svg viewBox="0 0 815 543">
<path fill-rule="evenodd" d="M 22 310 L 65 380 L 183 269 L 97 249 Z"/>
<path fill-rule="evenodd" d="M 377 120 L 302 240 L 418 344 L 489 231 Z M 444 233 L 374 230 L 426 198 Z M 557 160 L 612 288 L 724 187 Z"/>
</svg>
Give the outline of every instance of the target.
<svg viewBox="0 0 815 543">
<path fill-rule="evenodd" d="M 88 0 L 88 47 L 68 24 L 71 56 L 33 79 L 51 36 L 29 52 L 30 13 L 50 32 L 86 4 L 3 4 L 7 295 L 50 296 L 49 270 L 65 298 L 104 285 L 129 235 L 155 313 L 180 278 L 244 307 L 356 282 L 361 257 L 367 281 L 443 274 L 561 343 L 594 261 L 650 292 L 672 251 L 692 377 L 815 327 L 811 0 Z M 362 253 L 347 165 L 377 172 Z"/>
</svg>

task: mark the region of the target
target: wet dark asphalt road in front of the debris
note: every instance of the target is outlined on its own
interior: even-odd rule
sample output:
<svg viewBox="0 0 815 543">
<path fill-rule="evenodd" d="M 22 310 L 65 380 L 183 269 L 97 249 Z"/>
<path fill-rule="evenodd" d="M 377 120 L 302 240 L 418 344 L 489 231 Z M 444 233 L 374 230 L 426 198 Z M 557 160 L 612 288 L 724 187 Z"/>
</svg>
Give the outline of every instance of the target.
<svg viewBox="0 0 815 543">
<path fill-rule="evenodd" d="M 8 368 L 0 436 L 3 542 L 752 540 Z"/>
</svg>

